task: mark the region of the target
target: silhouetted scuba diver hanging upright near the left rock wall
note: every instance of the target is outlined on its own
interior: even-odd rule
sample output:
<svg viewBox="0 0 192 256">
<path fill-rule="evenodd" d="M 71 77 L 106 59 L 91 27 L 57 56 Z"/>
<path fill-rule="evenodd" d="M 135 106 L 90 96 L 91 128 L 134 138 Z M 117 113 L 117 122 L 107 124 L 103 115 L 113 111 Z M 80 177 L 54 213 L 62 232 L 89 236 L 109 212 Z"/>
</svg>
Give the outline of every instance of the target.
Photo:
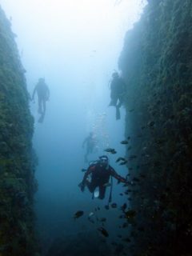
<svg viewBox="0 0 192 256">
<path fill-rule="evenodd" d="M 44 78 L 39 78 L 37 85 L 34 87 L 34 92 L 32 95 L 32 101 L 34 101 L 34 95 L 38 94 L 38 113 L 41 114 L 38 122 L 42 122 L 46 114 L 46 101 L 50 98 L 50 90 L 46 85 Z"/>
</svg>

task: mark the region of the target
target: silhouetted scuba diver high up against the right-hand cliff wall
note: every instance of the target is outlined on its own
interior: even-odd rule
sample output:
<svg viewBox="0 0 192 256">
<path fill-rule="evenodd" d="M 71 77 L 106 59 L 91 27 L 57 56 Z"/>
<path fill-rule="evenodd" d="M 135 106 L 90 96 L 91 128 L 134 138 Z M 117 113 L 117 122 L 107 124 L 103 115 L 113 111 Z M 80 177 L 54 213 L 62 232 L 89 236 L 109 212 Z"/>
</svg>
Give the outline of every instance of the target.
<svg viewBox="0 0 192 256">
<path fill-rule="evenodd" d="M 116 107 L 116 120 L 121 118 L 120 107 L 122 106 L 125 95 L 126 84 L 122 78 L 119 77 L 118 72 L 112 74 L 112 81 L 110 82 L 110 104 L 109 106 Z"/>
</svg>

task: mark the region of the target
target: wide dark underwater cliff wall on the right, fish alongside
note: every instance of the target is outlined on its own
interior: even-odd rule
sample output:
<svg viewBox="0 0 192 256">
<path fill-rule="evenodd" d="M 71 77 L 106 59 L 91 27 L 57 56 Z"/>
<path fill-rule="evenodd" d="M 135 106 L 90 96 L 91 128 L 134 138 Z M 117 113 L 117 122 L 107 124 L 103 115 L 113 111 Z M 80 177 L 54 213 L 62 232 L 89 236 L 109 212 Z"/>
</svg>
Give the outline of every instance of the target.
<svg viewBox="0 0 192 256">
<path fill-rule="evenodd" d="M 119 58 L 126 154 L 137 156 L 127 165 L 130 181 L 138 178 L 132 207 L 142 226 L 132 227 L 134 253 L 191 255 L 192 2 L 148 2 Z"/>
</svg>

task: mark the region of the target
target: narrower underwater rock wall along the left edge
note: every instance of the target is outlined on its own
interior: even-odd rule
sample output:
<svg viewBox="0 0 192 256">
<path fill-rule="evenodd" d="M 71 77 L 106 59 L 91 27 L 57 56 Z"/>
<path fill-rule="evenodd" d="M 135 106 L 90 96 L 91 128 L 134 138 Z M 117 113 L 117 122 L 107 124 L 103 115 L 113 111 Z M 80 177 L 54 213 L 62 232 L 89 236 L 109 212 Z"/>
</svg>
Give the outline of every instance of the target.
<svg viewBox="0 0 192 256">
<path fill-rule="evenodd" d="M 34 120 L 14 37 L 0 8 L 0 254 L 34 255 Z"/>
</svg>

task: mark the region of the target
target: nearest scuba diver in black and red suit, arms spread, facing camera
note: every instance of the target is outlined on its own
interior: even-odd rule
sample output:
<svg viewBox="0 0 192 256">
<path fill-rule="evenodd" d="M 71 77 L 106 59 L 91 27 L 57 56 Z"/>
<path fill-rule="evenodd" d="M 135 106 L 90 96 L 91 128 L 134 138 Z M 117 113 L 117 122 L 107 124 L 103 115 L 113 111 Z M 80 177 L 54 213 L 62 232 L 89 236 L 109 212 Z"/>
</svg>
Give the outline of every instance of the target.
<svg viewBox="0 0 192 256">
<path fill-rule="evenodd" d="M 89 181 L 88 176 L 91 175 L 91 179 Z M 111 177 L 111 184 L 109 183 Z M 106 155 L 102 155 L 99 157 L 98 161 L 95 161 L 91 164 L 86 170 L 82 182 L 78 185 L 82 192 L 85 190 L 85 186 L 88 187 L 91 193 L 94 196 L 94 190 L 98 187 L 99 190 L 99 199 L 105 198 L 106 187 L 110 186 L 112 190 L 112 177 L 116 178 L 119 182 L 126 183 L 126 178 L 122 178 L 120 175 L 116 173 L 114 168 L 109 165 L 109 158 Z M 110 190 L 110 198 L 111 198 L 111 190 Z M 109 199 L 110 202 L 110 199 Z"/>
</svg>

